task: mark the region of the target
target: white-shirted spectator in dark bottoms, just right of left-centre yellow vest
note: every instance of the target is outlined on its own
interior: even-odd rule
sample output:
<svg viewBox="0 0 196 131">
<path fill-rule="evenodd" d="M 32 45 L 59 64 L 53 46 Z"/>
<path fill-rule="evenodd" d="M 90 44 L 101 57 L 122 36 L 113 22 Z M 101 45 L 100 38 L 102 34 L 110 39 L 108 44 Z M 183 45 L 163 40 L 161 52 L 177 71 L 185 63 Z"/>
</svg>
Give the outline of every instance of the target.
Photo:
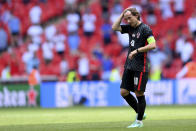
<svg viewBox="0 0 196 131">
<path fill-rule="evenodd" d="M 86 57 L 86 54 L 82 53 L 78 60 L 78 73 L 82 81 L 88 80 L 89 71 L 89 60 Z"/>
</svg>

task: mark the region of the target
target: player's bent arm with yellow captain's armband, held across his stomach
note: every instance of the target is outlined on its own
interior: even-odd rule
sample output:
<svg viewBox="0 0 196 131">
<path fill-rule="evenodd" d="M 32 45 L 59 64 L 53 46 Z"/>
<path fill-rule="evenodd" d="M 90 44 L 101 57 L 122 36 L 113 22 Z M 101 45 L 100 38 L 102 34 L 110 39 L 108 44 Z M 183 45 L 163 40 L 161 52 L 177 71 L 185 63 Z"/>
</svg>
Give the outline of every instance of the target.
<svg viewBox="0 0 196 131">
<path fill-rule="evenodd" d="M 129 54 L 129 59 L 132 59 L 134 57 L 134 55 L 136 55 L 139 52 L 148 52 L 149 50 L 155 49 L 156 48 L 156 41 L 153 35 L 149 36 L 147 38 L 147 42 L 148 44 L 144 47 L 140 47 L 134 51 L 132 51 Z"/>
</svg>

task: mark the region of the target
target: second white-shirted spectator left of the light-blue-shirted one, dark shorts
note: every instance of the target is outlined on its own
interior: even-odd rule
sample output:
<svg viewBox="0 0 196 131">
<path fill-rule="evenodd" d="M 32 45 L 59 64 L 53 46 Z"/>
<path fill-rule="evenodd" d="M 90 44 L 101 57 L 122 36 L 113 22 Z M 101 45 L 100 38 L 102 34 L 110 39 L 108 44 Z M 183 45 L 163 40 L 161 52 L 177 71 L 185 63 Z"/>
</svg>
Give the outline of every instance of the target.
<svg viewBox="0 0 196 131">
<path fill-rule="evenodd" d="M 42 45 L 43 58 L 46 65 L 48 65 L 54 57 L 53 48 L 54 44 L 48 40 Z"/>
</svg>

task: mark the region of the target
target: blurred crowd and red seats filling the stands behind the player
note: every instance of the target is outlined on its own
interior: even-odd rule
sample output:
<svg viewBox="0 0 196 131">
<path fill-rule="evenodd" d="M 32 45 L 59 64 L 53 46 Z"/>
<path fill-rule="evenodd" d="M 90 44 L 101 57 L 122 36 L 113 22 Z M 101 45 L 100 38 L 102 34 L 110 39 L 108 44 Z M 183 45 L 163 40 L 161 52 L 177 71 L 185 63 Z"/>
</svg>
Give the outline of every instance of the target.
<svg viewBox="0 0 196 131">
<path fill-rule="evenodd" d="M 127 7 L 151 26 L 150 79 L 172 79 L 196 60 L 195 0 L 1 0 L 0 73 L 32 69 L 61 81 L 121 79 L 128 35 L 111 30 Z"/>
</svg>

